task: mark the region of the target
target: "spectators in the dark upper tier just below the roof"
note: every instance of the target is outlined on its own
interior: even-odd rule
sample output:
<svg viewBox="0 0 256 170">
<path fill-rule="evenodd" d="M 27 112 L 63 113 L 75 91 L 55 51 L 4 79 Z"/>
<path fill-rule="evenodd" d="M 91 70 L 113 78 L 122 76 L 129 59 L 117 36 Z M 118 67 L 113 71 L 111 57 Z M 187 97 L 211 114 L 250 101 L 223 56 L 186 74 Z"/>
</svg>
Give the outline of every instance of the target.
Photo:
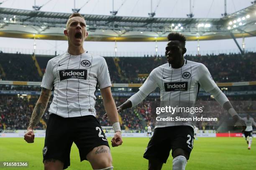
<svg viewBox="0 0 256 170">
<path fill-rule="evenodd" d="M 52 56 L 37 56 L 36 58 L 44 72 Z M 120 70 L 118 70 L 113 59 L 114 57 L 105 57 L 112 83 L 142 83 L 155 67 L 166 63 L 164 56 L 119 57 L 117 63 Z M 186 55 L 185 59 L 205 64 L 216 82 L 254 81 L 256 77 L 255 52 L 248 52 L 245 55 L 231 53 L 205 56 Z M 6 73 L 5 77 L 1 76 L 2 80 L 41 81 L 31 55 L 0 53 L 0 64 Z M 17 72 L 19 74 L 16 74 Z"/>
</svg>

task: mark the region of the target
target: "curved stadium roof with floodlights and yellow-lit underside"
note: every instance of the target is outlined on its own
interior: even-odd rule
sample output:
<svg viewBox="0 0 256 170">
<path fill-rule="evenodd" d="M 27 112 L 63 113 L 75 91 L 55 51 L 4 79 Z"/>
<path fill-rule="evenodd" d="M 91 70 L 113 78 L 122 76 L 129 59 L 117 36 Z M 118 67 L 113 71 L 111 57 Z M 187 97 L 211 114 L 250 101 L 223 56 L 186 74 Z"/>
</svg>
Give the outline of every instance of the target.
<svg viewBox="0 0 256 170">
<path fill-rule="evenodd" d="M 0 37 L 67 40 L 63 31 L 69 15 L 0 7 Z M 256 36 L 256 4 L 223 18 L 82 15 L 87 22 L 89 41 L 167 41 L 170 32 L 182 32 L 187 40 Z"/>
</svg>

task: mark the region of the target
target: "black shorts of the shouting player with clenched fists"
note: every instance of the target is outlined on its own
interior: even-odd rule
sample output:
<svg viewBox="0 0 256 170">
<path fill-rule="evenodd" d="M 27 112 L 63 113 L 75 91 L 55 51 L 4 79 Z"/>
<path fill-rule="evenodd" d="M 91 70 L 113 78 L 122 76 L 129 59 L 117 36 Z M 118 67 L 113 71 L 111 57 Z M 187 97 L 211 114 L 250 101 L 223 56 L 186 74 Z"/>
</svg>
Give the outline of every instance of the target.
<svg viewBox="0 0 256 170">
<path fill-rule="evenodd" d="M 64 118 L 51 114 L 47 123 L 43 148 L 43 162 L 60 160 L 64 168 L 70 166 L 72 143 L 79 149 L 80 161 L 95 147 L 108 145 L 107 138 L 96 117 L 92 115 Z"/>
</svg>

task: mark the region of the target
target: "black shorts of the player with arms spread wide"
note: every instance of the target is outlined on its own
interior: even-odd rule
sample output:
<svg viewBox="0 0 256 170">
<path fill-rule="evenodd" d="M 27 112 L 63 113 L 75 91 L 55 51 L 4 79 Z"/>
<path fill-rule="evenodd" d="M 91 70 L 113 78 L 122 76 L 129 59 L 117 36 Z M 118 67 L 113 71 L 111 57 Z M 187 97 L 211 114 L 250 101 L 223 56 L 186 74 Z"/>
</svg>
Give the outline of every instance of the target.
<svg viewBox="0 0 256 170">
<path fill-rule="evenodd" d="M 174 150 L 181 148 L 188 156 L 187 160 L 189 160 L 193 143 L 194 129 L 190 126 L 156 128 L 143 158 L 159 160 L 162 163 L 166 163 L 170 151 L 172 150 L 173 156 Z"/>
</svg>

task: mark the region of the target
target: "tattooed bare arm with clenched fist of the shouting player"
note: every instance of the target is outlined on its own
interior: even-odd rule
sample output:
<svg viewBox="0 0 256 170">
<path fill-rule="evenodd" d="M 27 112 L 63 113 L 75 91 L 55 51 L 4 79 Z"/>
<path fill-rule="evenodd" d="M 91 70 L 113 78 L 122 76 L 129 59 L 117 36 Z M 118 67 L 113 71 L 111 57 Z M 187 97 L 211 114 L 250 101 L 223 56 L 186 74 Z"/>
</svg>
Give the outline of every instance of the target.
<svg viewBox="0 0 256 170">
<path fill-rule="evenodd" d="M 51 90 L 48 90 L 43 87 L 41 91 L 41 95 L 37 100 L 36 106 L 31 115 L 31 120 L 28 125 L 27 133 L 24 135 L 24 140 L 26 140 L 26 142 L 28 143 L 34 142 L 35 135 L 33 133 L 33 128 L 36 126 L 36 124 L 39 122 L 41 117 L 44 115 L 44 111 L 46 110 L 50 97 L 51 97 Z"/>
</svg>

